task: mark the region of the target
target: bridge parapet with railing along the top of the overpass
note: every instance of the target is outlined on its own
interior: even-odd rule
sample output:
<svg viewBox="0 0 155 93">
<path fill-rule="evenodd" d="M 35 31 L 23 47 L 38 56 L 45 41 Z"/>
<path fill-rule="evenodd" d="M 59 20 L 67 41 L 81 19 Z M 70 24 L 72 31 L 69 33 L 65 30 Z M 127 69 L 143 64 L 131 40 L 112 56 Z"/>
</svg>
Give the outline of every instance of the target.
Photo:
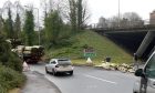
<svg viewBox="0 0 155 93">
<path fill-rule="evenodd" d="M 153 19 L 152 19 L 153 20 Z M 155 20 L 154 20 L 155 21 Z M 137 21 L 126 21 L 126 22 L 107 22 L 107 23 L 92 23 L 89 25 L 89 29 L 94 30 L 94 31 L 133 31 L 133 30 L 149 30 L 154 31 L 155 30 L 155 23 L 151 23 L 151 20 L 140 20 Z"/>
</svg>

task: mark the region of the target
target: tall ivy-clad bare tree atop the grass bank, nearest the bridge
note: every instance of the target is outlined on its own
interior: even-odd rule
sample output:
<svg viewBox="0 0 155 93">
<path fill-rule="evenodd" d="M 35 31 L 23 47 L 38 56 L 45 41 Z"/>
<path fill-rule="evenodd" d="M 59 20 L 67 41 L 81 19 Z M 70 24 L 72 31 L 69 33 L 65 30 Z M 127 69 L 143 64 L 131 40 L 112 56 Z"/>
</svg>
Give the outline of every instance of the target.
<svg viewBox="0 0 155 93">
<path fill-rule="evenodd" d="M 78 30 L 82 30 L 86 21 L 90 18 L 86 1 L 84 0 L 69 0 L 70 8 L 70 22 L 73 28 L 78 28 Z"/>
</svg>

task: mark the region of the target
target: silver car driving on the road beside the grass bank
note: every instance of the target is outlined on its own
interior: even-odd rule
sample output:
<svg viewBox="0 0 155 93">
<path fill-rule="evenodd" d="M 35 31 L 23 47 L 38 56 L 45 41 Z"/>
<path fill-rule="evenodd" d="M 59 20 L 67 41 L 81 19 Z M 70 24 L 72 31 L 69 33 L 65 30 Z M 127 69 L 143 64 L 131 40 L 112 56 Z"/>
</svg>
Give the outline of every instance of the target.
<svg viewBox="0 0 155 93">
<path fill-rule="evenodd" d="M 45 64 L 45 72 L 52 73 L 53 75 L 58 73 L 69 73 L 73 74 L 73 66 L 70 59 L 51 59 L 48 64 Z"/>
</svg>

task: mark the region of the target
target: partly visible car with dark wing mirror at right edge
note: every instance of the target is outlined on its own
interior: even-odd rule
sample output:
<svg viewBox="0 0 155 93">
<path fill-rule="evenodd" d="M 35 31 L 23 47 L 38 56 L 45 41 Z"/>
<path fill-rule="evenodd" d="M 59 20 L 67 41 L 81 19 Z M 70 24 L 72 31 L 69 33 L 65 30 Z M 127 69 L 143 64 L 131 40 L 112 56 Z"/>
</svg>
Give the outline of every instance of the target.
<svg viewBox="0 0 155 93">
<path fill-rule="evenodd" d="M 144 69 L 137 69 L 138 76 L 134 83 L 133 93 L 155 93 L 155 51 L 146 61 Z"/>
</svg>

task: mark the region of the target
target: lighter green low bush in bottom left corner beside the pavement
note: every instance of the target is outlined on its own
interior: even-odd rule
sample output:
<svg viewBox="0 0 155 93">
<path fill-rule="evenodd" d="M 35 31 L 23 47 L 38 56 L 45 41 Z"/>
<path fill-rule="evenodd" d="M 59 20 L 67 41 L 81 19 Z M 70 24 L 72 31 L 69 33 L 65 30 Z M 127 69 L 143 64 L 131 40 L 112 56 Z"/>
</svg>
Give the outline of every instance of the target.
<svg viewBox="0 0 155 93">
<path fill-rule="evenodd" d="M 25 76 L 10 68 L 0 65 L 0 93 L 7 93 L 14 87 L 21 87 Z"/>
</svg>

